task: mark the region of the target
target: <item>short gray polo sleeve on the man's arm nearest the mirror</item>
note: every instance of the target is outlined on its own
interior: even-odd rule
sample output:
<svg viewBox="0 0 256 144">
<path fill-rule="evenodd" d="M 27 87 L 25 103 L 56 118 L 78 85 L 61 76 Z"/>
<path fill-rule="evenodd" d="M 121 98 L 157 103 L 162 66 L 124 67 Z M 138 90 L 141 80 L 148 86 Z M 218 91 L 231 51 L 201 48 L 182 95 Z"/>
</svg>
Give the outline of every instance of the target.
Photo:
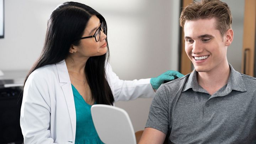
<svg viewBox="0 0 256 144">
<path fill-rule="evenodd" d="M 169 131 L 169 96 L 166 93 L 165 86 L 161 85 L 156 91 L 156 95 L 152 100 L 149 117 L 146 127 L 160 130 L 167 134 Z"/>
</svg>

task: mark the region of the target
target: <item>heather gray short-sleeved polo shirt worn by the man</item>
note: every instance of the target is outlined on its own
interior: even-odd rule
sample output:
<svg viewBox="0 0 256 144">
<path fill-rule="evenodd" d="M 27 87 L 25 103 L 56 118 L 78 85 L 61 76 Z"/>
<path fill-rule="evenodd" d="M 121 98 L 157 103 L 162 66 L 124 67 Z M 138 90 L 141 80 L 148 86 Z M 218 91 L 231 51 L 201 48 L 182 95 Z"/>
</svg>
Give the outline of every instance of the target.
<svg viewBox="0 0 256 144">
<path fill-rule="evenodd" d="M 256 143 L 256 78 L 229 66 L 228 83 L 213 95 L 198 85 L 195 70 L 162 84 L 145 127 L 175 144 Z"/>
</svg>

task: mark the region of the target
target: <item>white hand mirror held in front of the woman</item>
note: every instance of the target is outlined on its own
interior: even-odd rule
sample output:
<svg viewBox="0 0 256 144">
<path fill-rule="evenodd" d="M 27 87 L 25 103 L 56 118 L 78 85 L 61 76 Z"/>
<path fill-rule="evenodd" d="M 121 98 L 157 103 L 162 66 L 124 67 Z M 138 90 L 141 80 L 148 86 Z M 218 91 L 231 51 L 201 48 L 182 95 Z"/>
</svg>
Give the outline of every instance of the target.
<svg viewBox="0 0 256 144">
<path fill-rule="evenodd" d="M 136 144 L 132 122 L 122 108 L 92 105 L 91 114 L 96 131 L 103 143 Z"/>
</svg>

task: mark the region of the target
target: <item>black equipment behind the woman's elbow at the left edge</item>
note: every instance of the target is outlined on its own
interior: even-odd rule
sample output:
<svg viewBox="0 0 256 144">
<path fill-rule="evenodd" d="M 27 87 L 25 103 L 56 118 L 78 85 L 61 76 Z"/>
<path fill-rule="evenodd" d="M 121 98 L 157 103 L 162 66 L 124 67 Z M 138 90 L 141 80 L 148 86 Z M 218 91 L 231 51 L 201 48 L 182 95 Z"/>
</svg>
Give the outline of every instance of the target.
<svg viewBox="0 0 256 144">
<path fill-rule="evenodd" d="M 23 136 L 20 128 L 20 107 L 17 98 L 20 87 L 0 89 L 0 144 L 21 144 Z"/>
</svg>

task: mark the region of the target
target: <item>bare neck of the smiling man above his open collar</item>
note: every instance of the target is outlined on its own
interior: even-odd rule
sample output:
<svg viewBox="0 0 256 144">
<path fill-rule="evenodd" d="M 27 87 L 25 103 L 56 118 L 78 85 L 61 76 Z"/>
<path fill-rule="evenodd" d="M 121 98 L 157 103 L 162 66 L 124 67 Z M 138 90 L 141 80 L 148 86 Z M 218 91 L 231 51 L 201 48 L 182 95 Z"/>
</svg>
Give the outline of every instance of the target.
<svg viewBox="0 0 256 144">
<path fill-rule="evenodd" d="M 209 72 L 198 72 L 197 81 L 203 89 L 208 91 L 210 95 L 213 95 L 228 83 L 229 75 L 230 68 L 227 63 L 224 66 L 219 66 L 219 68 Z"/>
</svg>

